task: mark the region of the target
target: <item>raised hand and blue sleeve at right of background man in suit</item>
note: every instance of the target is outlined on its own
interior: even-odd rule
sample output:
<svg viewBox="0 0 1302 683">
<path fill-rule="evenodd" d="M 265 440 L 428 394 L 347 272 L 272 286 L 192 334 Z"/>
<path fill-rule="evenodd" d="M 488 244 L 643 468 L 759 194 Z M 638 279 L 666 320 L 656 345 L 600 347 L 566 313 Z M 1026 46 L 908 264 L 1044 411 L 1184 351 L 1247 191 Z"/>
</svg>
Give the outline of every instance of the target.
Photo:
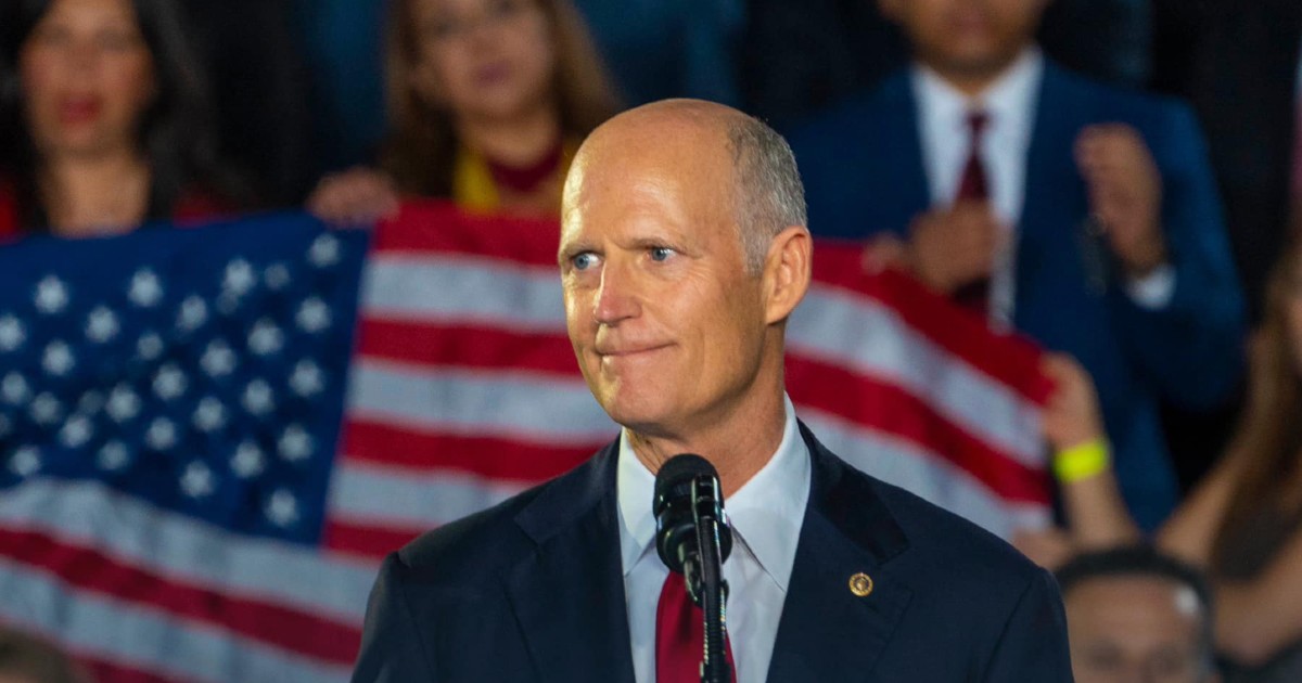
<svg viewBox="0 0 1302 683">
<path fill-rule="evenodd" d="M 1243 302 L 1193 112 L 1167 104 L 1143 135 L 1125 125 L 1094 126 L 1077 154 L 1091 211 L 1126 284 L 1113 298 L 1133 366 L 1167 399 L 1216 407 L 1242 369 Z M 1154 280 L 1165 284 L 1146 286 Z"/>
</svg>

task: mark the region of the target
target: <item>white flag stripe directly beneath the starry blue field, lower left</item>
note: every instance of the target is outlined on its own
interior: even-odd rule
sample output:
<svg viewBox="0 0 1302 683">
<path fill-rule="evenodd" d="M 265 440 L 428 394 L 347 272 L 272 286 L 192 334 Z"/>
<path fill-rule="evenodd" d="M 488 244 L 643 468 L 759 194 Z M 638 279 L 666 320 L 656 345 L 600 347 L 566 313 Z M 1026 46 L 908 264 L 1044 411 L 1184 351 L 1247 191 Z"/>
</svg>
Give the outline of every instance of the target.
<svg viewBox="0 0 1302 683">
<path fill-rule="evenodd" d="M 7 490 L 0 527 L 46 533 L 150 574 L 342 624 L 361 623 L 375 580 L 375 569 L 355 561 L 234 535 L 94 481 L 33 479 Z"/>
</svg>

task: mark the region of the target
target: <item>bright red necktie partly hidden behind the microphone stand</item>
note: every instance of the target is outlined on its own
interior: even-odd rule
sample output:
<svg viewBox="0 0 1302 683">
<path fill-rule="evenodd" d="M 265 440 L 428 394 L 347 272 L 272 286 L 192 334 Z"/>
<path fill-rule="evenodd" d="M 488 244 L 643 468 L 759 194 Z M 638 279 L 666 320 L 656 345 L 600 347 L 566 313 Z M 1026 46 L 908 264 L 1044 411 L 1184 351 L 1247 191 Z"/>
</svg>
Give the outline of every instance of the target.
<svg viewBox="0 0 1302 683">
<path fill-rule="evenodd" d="M 737 680 L 732 643 L 725 641 L 725 658 Z M 687 595 L 682 574 L 669 572 L 660 589 L 655 610 L 655 679 L 656 683 L 700 683 L 700 658 L 706 652 L 704 613 Z"/>
</svg>

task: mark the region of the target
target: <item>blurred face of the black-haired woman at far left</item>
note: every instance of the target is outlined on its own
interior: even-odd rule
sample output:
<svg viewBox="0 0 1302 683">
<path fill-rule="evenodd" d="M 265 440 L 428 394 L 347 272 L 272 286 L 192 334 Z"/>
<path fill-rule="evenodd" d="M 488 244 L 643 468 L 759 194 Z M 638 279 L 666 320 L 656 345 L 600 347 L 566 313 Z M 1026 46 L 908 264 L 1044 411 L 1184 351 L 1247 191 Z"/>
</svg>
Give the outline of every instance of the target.
<svg viewBox="0 0 1302 683">
<path fill-rule="evenodd" d="M 55 0 L 18 60 L 27 125 L 43 156 L 135 147 L 155 86 L 130 0 Z"/>
</svg>

